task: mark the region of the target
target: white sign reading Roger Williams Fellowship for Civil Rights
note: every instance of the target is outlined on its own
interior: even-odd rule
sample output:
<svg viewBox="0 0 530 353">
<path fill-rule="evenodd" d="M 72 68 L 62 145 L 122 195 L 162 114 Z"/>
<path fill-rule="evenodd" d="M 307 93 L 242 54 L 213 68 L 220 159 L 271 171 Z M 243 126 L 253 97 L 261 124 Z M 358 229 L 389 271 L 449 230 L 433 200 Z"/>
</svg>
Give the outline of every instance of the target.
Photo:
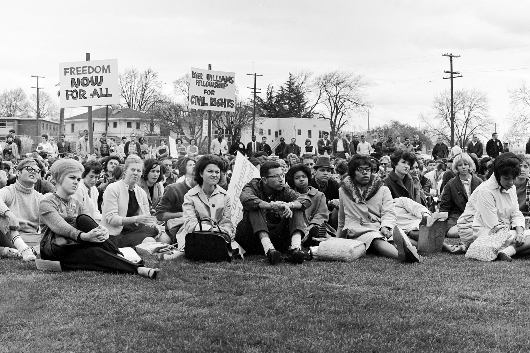
<svg viewBox="0 0 530 353">
<path fill-rule="evenodd" d="M 235 112 L 235 73 L 192 67 L 189 107 Z"/>
</svg>

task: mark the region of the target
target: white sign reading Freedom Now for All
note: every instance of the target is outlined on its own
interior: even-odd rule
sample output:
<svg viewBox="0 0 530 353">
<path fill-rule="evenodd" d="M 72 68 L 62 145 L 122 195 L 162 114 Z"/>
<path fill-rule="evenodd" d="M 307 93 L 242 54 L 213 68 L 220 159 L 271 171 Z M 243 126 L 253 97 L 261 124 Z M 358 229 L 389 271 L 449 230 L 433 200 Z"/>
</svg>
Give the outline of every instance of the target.
<svg viewBox="0 0 530 353">
<path fill-rule="evenodd" d="M 118 59 L 59 64 L 61 108 L 120 103 Z"/>
</svg>

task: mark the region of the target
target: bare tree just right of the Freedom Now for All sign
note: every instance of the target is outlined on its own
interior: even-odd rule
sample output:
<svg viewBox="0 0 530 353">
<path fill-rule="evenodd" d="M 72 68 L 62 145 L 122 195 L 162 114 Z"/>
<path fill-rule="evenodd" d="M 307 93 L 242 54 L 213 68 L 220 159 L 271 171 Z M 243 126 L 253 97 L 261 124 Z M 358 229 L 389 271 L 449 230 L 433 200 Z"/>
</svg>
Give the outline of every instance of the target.
<svg viewBox="0 0 530 353">
<path fill-rule="evenodd" d="M 125 69 L 119 75 L 120 95 L 125 106 L 146 113 L 157 101 L 163 100 L 162 82 L 152 68 L 140 72 L 135 67 Z"/>
</svg>

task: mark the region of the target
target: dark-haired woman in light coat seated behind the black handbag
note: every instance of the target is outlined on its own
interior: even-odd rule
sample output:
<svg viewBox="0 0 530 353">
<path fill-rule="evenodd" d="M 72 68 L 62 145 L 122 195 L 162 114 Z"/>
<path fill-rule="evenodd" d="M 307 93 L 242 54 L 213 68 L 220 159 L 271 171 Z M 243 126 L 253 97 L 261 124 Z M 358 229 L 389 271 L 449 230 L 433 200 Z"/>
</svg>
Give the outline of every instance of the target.
<svg viewBox="0 0 530 353">
<path fill-rule="evenodd" d="M 214 224 L 203 222 L 203 226 L 207 224 L 214 227 L 215 230 L 218 227 L 234 240 L 230 197 L 222 187 L 217 185 L 222 169 L 223 161 L 215 155 L 205 155 L 197 161 L 193 170 L 193 180 L 198 185 L 191 188 L 184 196 L 184 204 L 182 205 L 184 224 L 176 233 L 179 250 L 184 249 L 186 234 L 191 233 L 202 218 L 210 218 L 214 221 Z M 205 228 L 203 227 L 203 229 Z M 183 255 L 184 252 L 180 251 L 163 256 L 163 258 L 178 258 Z"/>
</svg>

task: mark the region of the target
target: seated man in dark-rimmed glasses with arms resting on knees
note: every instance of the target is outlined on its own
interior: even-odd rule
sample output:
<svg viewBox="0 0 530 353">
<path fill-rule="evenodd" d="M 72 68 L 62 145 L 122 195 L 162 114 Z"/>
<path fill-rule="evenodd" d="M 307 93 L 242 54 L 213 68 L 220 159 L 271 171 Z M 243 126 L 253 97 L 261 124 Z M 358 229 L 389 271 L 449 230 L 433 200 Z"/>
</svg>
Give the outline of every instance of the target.
<svg viewBox="0 0 530 353">
<path fill-rule="evenodd" d="M 286 261 L 301 264 L 305 258 L 303 211 L 311 200 L 285 184 L 285 173 L 277 162 L 264 162 L 260 176 L 241 191 L 243 219 L 237 224 L 235 241 L 249 254 L 264 251 L 271 265 L 284 259 L 281 252 L 286 251 Z"/>
</svg>

